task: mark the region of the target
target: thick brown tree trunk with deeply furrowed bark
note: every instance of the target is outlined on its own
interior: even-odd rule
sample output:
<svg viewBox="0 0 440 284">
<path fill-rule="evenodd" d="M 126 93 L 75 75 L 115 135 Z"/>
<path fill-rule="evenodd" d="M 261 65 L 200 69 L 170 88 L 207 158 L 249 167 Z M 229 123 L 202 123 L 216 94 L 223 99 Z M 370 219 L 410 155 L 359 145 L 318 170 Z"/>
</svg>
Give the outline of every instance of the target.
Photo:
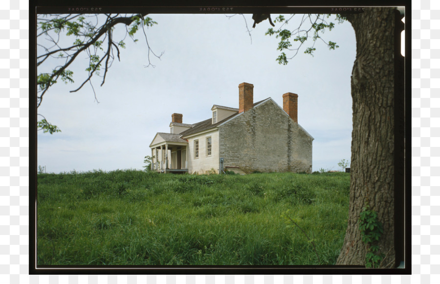
<svg viewBox="0 0 440 284">
<path fill-rule="evenodd" d="M 356 60 L 350 209 L 338 265 L 365 265 L 368 248 L 358 219 L 369 205 L 383 225 L 380 267 L 395 267 L 395 10 L 365 8 L 363 14 L 346 15 L 356 34 Z"/>
</svg>

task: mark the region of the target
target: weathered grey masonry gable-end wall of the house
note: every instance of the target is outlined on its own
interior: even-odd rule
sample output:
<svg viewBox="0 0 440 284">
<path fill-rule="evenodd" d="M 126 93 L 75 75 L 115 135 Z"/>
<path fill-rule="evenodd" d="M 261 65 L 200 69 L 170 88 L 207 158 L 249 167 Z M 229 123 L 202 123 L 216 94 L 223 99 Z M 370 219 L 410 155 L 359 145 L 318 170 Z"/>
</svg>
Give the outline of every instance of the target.
<svg viewBox="0 0 440 284">
<path fill-rule="evenodd" d="M 312 170 L 312 138 L 272 100 L 220 126 L 224 166 L 245 173 Z"/>
</svg>

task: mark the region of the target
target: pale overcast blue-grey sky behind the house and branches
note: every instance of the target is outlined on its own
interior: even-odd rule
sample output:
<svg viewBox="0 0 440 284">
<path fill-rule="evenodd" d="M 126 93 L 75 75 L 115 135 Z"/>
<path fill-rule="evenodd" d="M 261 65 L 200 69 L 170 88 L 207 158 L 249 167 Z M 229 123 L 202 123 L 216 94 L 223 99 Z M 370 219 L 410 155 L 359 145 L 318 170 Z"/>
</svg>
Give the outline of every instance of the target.
<svg viewBox="0 0 440 284">
<path fill-rule="evenodd" d="M 302 49 L 283 66 L 276 62 L 279 40 L 264 35 L 270 24 L 264 21 L 252 29 L 251 14 L 244 16 L 252 38 L 241 15 L 149 16 L 158 24 L 146 30 L 148 42 L 156 54 L 164 52 L 160 60 L 150 55 L 155 68 L 145 68 L 147 48 L 138 32 L 137 43 L 125 39 L 121 61 L 113 62 L 105 84 L 100 87 L 102 78 L 93 78 L 99 103 L 89 84 L 69 93 L 87 76 L 86 54 L 69 68 L 74 84 L 60 80 L 44 95 L 38 113 L 62 130 L 53 135 L 38 132 L 38 165 L 47 172 L 142 169 L 154 135 L 170 131 L 173 113 L 192 124 L 210 118 L 213 104 L 238 108 L 242 82 L 254 85 L 254 102 L 272 97 L 282 107 L 283 94 L 298 94 L 298 123 L 315 139 L 314 171 L 337 170 L 338 162 L 350 160 L 350 76 L 356 51 L 350 23 L 336 24 L 324 34 L 339 45 L 336 50 L 317 42 L 314 57 Z M 295 21 L 288 27 L 294 29 Z M 115 32 L 122 39 L 125 29 L 116 26 Z M 113 38 L 118 38 L 116 33 Z M 73 41 L 67 38 L 66 43 Z M 38 44 L 47 42 L 39 38 Z M 38 73 L 59 64 L 53 62 Z"/>
</svg>

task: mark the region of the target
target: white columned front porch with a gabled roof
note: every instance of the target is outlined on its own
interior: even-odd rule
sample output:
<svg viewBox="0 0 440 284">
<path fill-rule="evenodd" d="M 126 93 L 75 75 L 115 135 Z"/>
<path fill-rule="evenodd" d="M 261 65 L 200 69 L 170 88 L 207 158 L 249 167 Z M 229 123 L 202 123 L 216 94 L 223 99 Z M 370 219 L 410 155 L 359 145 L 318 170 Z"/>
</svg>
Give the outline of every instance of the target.
<svg viewBox="0 0 440 284">
<path fill-rule="evenodd" d="M 163 173 L 188 172 L 188 142 L 179 135 L 157 133 L 151 148 L 151 170 Z"/>
</svg>

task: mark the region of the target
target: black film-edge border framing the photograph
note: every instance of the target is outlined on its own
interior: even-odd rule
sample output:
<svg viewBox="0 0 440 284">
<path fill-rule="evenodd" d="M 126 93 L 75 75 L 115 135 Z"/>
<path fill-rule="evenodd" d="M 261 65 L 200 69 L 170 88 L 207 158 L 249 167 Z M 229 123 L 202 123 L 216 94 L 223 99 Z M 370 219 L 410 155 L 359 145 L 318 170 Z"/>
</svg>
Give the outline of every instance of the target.
<svg viewBox="0 0 440 284">
<path fill-rule="evenodd" d="M 77 13 L 67 12 L 69 7 L 102 7 L 106 12 L 118 9 L 120 13 L 129 13 L 133 7 L 136 12 L 139 8 L 157 10 L 167 13 L 197 13 L 200 7 L 234 7 L 236 13 L 254 11 L 256 8 L 270 9 L 271 13 L 286 13 L 286 6 L 295 7 L 353 7 L 352 1 L 275 1 L 264 7 L 255 7 L 240 4 L 237 1 L 204 1 L 200 3 L 182 3 L 177 1 L 158 2 L 156 5 L 146 5 L 144 1 L 135 0 L 127 4 L 124 1 L 110 2 L 103 0 L 77 0 L 66 3 L 59 0 L 36 0 L 30 3 L 29 30 L 30 30 L 30 84 L 29 84 L 29 274 L 411 274 L 411 1 L 358 1 L 356 7 L 371 6 L 404 6 L 405 7 L 405 57 L 400 56 L 396 48 L 395 94 L 405 94 L 397 98 L 395 104 L 395 224 L 396 224 L 396 261 L 403 261 L 404 268 L 374 269 L 360 266 L 37 266 L 36 265 L 36 212 L 37 212 L 37 114 L 36 114 L 36 15 L 44 13 Z M 209 4 L 208 4 L 209 3 Z M 93 5 L 91 5 L 93 4 Z M 142 9 L 143 9 L 142 8 Z M 127 11 L 122 11 L 127 9 Z M 161 12 L 161 13 L 163 13 Z M 202 13 L 209 13 L 206 10 Z M 218 13 L 218 12 L 214 12 Z M 230 12 L 228 12 L 230 13 Z M 233 12 L 235 13 L 235 12 Z M 251 13 L 251 12 L 247 12 Z M 325 12 L 324 12 L 325 13 Z M 400 22 L 401 23 L 401 22 Z M 396 28 L 403 29 L 403 23 L 396 24 Z M 396 33 L 397 34 L 397 33 Z M 400 46 L 400 39 L 396 37 L 396 47 Z M 404 194 L 402 194 L 404 189 Z M 32 235 L 32 236 L 31 236 Z M 397 262 L 399 263 L 399 262 Z"/>
</svg>

